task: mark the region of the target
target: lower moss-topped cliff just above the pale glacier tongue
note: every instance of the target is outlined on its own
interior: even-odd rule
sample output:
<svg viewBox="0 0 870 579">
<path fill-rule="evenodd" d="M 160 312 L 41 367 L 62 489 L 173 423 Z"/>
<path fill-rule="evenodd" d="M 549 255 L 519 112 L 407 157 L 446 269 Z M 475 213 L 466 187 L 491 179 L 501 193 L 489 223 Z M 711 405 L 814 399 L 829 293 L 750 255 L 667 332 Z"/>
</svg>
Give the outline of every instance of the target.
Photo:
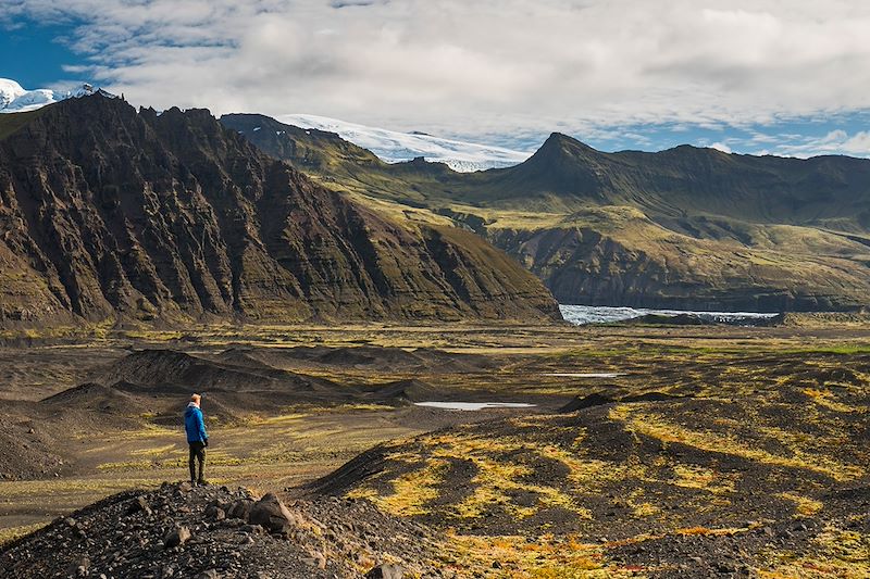
<svg viewBox="0 0 870 579">
<path fill-rule="evenodd" d="M 692 239 L 636 243 L 584 226 L 493 229 L 488 239 L 561 303 L 676 310 L 854 311 L 870 270 L 848 259 L 791 256 Z"/>
</svg>

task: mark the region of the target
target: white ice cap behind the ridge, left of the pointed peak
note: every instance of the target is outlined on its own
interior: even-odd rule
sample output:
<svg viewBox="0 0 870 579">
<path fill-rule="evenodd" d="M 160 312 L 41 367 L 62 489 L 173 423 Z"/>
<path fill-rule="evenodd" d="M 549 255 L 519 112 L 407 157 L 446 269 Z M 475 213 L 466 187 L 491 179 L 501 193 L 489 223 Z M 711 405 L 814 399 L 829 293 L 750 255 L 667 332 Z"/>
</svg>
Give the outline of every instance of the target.
<svg viewBox="0 0 870 579">
<path fill-rule="evenodd" d="M 532 154 L 501 147 L 443 139 L 422 133 L 399 133 L 369 127 L 325 116 L 288 114 L 276 118 L 300 128 L 337 133 L 343 139 L 369 149 L 387 163 L 399 163 L 422 156 L 426 161 L 447 163 L 453 171 L 472 172 L 517 165 Z"/>
</svg>

